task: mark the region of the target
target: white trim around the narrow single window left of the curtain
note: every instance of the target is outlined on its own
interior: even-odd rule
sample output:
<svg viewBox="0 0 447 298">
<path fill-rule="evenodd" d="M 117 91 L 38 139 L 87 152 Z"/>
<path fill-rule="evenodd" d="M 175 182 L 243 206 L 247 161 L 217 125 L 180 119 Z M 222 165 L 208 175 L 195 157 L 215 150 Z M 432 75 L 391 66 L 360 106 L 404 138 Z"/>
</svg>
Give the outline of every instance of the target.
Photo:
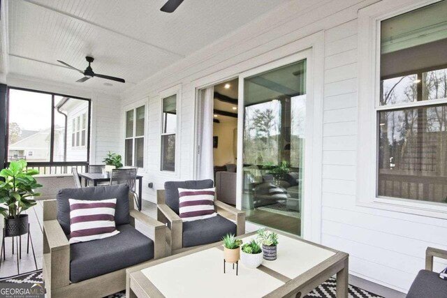
<svg viewBox="0 0 447 298">
<path fill-rule="evenodd" d="M 172 171 L 166 171 L 166 170 L 161 170 L 161 136 L 162 135 L 166 135 L 163 134 L 163 99 L 164 98 L 168 98 L 169 96 L 173 96 L 173 95 L 177 95 L 177 100 L 176 100 L 176 109 L 177 109 L 177 127 L 175 128 L 175 170 L 174 172 Z M 159 173 L 163 176 L 163 177 L 175 177 L 175 178 L 179 178 L 180 177 L 180 154 L 181 151 L 179 149 L 179 147 L 181 146 L 180 144 L 180 139 L 181 139 L 181 123 L 182 123 L 182 112 L 181 112 L 181 107 L 182 107 L 182 84 L 178 84 L 174 87 L 170 87 L 169 89 L 163 90 L 161 92 L 159 92 L 159 107 L 160 107 L 160 127 L 159 127 L 159 137 L 158 137 L 158 142 L 159 142 Z M 169 133 L 170 135 L 170 133 Z"/>
</svg>

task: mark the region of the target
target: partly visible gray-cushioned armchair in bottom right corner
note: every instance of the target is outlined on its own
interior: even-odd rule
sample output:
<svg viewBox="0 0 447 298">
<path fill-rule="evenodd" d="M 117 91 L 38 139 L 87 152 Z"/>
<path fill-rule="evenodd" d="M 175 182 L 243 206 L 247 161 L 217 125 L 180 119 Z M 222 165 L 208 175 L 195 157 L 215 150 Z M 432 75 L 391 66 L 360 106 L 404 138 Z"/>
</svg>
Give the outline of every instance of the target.
<svg viewBox="0 0 447 298">
<path fill-rule="evenodd" d="M 438 272 L 433 272 L 433 257 L 447 260 L 447 251 L 428 247 L 425 252 L 425 270 L 420 270 L 406 298 L 446 297 L 447 281 L 439 278 Z"/>
</svg>

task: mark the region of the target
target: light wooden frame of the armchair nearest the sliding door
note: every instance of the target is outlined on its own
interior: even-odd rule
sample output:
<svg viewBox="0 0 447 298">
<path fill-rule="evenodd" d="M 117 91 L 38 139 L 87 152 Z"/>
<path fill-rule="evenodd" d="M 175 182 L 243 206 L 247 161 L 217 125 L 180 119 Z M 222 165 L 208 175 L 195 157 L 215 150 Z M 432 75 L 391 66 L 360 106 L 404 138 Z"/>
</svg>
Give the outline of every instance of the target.
<svg viewBox="0 0 447 298">
<path fill-rule="evenodd" d="M 229 212 L 232 216 L 235 217 L 236 226 L 237 226 L 237 236 L 245 234 L 245 212 L 236 209 L 224 202 L 219 200 L 214 200 L 214 204 L 216 207 L 223 209 L 224 211 Z M 168 226 L 166 232 L 166 242 L 168 243 L 168 248 L 170 254 L 182 253 L 182 251 L 188 251 L 189 249 L 196 248 L 197 246 L 192 247 L 183 247 L 183 222 L 182 218 L 178 216 L 178 214 L 170 209 L 170 207 L 166 204 L 166 196 L 164 190 L 159 190 L 156 193 L 156 206 L 157 206 L 157 220 L 162 223 L 170 223 L 170 227 Z M 219 213 L 219 209 L 217 210 Z M 226 216 L 223 216 L 226 217 Z"/>
</svg>

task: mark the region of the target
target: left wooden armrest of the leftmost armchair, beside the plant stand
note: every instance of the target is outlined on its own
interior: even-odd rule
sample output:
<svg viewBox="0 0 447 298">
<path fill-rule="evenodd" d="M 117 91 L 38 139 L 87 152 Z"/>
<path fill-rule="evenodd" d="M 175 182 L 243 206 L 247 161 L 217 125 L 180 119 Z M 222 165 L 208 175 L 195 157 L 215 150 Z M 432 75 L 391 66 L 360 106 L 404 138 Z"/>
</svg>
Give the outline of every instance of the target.
<svg viewBox="0 0 447 298">
<path fill-rule="evenodd" d="M 70 244 L 57 220 L 43 222 L 43 260 L 50 288 L 70 284 Z"/>
</svg>

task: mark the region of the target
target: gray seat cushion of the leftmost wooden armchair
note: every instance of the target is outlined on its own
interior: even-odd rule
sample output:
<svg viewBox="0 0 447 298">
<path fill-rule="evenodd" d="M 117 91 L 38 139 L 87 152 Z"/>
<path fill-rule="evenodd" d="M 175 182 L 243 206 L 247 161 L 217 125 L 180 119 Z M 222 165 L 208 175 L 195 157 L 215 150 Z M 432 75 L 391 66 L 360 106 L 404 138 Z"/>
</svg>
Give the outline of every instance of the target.
<svg viewBox="0 0 447 298">
<path fill-rule="evenodd" d="M 119 234 L 70 246 L 70 280 L 85 281 L 154 258 L 154 241 L 131 225 L 119 225 Z"/>
</svg>

